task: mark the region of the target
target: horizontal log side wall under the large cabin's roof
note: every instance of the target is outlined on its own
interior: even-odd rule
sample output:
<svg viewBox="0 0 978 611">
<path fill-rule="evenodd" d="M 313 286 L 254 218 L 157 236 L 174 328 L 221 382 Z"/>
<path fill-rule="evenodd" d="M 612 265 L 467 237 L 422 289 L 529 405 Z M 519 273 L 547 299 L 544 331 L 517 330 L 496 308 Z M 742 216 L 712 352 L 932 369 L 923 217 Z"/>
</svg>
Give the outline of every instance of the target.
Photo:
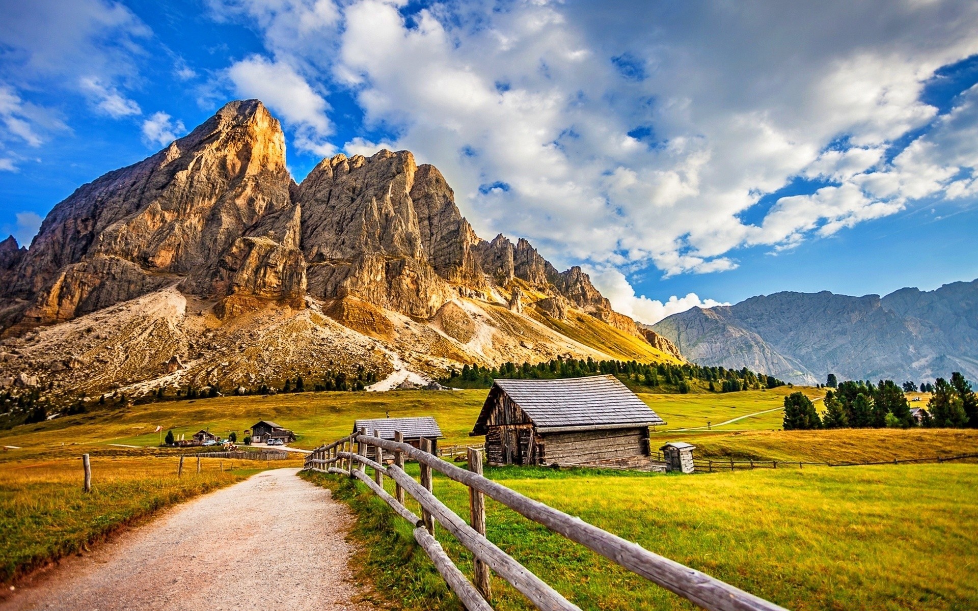
<svg viewBox="0 0 978 611">
<path fill-rule="evenodd" d="M 619 428 L 539 436 L 546 464 L 580 464 L 648 455 L 648 428 Z"/>
</svg>

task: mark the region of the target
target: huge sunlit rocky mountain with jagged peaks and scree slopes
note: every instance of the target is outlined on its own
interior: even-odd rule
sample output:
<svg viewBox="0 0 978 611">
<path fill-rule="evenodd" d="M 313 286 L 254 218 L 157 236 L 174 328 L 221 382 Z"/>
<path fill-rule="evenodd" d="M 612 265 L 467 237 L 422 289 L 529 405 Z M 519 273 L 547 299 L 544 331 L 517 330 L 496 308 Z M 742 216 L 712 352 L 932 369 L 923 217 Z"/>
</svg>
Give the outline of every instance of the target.
<svg viewBox="0 0 978 611">
<path fill-rule="evenodd" d="M 337 154 L 296 184 L 256 100 L 79 188 L 29 249 L 0 242 L 0 281 L 0 385 L 25 373 L 54 392 L 682 361 L 580 268 L 476 236 L 412 153 Z"/>
</svg>

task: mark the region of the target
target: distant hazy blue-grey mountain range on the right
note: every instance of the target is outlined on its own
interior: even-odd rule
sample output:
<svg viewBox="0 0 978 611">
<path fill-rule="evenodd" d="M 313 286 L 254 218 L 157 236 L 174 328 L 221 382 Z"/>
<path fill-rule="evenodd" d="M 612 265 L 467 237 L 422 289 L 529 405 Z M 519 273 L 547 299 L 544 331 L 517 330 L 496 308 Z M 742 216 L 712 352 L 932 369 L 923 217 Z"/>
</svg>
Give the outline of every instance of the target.
<svg viewBox="0 0 978 611">
<path fill-rule="evenodd" d="M 693 308 L 653 330 L 700 365 L 764 371 L 795 383 L 978 378 L 978 280 L 885 297 L 779 292 Z"/>
</svg>

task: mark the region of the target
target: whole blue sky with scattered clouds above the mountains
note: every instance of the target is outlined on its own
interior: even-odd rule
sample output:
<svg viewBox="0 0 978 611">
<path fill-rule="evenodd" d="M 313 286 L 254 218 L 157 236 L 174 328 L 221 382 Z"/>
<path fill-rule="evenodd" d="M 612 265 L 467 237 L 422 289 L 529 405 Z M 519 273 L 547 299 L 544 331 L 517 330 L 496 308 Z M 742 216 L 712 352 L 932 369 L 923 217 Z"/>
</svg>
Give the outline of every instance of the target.
<svg viewBox="0 0 978 611">
<path fill-rule="evenodd" d="M 978 3 L 0 0 L 0 232 L 230 100 L 409 150 L 654 323 L 978 278 Z"/>
</svg>

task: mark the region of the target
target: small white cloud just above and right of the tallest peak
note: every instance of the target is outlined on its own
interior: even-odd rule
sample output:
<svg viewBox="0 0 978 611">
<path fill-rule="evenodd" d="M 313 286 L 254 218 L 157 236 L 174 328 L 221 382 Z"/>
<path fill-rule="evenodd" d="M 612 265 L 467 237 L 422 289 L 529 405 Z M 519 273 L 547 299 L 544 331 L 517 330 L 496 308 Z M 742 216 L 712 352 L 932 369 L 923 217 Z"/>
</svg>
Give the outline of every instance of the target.
<svg viewBox="0 0 978 611">
<path fill-rule="evenodd" d="M 327 140 L 333 131 L 327 116 L 330 106 L 292 66 L 254 55 L 231 65 L 228 76 L 239 96 L 258 98 L 281 114 L 294 129 L 299 149 L 324 156 L 333 153 Z"/>
</svg>

